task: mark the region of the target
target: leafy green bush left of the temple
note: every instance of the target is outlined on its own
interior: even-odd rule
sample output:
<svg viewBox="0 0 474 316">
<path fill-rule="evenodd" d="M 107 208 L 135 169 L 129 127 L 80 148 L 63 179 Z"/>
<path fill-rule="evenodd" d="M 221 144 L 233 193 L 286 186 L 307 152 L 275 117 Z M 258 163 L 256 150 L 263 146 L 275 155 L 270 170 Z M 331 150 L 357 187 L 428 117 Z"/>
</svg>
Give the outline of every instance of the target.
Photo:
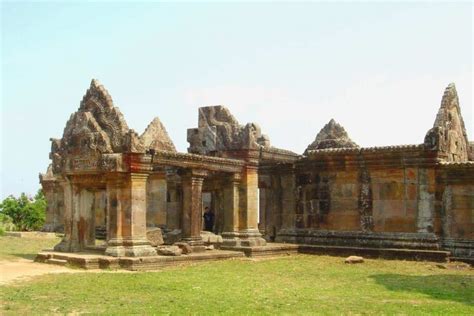
<svg viewBox="0 0 474 316">
<path fill-rule="evenodd" d="M 10 195 L 0 204 L 0 213 L 10 217 L 18 230 L 38 230 L 45 221 L 46 200 L 40 189 L 34 198 L 22 193 L 16 198 Z"/>
</svg>

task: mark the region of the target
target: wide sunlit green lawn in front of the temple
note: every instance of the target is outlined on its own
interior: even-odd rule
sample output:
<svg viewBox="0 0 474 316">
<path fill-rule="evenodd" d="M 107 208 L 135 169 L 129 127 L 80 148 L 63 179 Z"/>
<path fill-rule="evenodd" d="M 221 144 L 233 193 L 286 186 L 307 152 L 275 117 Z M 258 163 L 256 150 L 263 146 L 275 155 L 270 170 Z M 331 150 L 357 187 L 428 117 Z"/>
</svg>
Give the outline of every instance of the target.
<svg viewBox="0 0 474 316">
<path fill-rule="evenodd" d="M 45 275 L 0 287 L 0 306 L 5 315 L 474 315 L 474 271 L 388 260 L 346 265 L 309 255 L 228 260 L 159 272 Z"/>
</svg>

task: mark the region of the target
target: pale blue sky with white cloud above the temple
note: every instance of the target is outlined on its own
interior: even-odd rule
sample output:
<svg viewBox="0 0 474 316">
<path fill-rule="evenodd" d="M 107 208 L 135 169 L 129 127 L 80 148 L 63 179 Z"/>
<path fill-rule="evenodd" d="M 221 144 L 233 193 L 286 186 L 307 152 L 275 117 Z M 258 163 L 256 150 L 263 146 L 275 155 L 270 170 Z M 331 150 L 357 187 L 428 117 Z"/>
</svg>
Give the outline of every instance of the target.
<svg viewBox="0 0 474 316">
<path fill-rule="evenodd" d="M 39 188 L 92 78 L 179 151 L 216 104 L 298 153 L 331 118 L 361 146 L 421 143 L 450 82 L 473 140 L 472 23 L 469 2 L 2 2 L 1 196 Z"/>
</svg>

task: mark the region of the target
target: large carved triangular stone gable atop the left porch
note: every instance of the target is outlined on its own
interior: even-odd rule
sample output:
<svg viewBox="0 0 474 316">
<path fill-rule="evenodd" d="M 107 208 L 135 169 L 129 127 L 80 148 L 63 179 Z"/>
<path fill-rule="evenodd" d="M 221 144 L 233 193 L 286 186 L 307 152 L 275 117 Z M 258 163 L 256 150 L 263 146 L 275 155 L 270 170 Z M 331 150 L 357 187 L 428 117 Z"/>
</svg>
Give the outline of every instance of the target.
<svg viewBox="0 0 474 316">
<path fill-rule="evenodd" d="M 142 141 L 128 129 L 109 93 L 97 80 L 92 80 L 79 110 L 68 120 L 62 138 L 51 142 L 50 158 L 55 174 L 66 170 L 98 170 L 102 154 L 145 152 Z"/>
</svg>

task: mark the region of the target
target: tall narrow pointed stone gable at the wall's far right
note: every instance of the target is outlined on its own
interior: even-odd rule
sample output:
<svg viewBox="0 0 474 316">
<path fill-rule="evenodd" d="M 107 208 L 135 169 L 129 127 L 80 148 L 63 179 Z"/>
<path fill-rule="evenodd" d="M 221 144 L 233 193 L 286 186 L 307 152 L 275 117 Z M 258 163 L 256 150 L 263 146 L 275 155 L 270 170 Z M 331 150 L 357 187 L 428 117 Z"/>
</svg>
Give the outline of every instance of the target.
<svg viewBox="0 0 474 316">
<path fill-rule="evenodd" d="M 439 151 L 447 161 L 469 159 L 469 142 L 453 83 L 444 92 L 433 128 L 426 133 L 424 144 L 428 149 Z"/>
</svg>

